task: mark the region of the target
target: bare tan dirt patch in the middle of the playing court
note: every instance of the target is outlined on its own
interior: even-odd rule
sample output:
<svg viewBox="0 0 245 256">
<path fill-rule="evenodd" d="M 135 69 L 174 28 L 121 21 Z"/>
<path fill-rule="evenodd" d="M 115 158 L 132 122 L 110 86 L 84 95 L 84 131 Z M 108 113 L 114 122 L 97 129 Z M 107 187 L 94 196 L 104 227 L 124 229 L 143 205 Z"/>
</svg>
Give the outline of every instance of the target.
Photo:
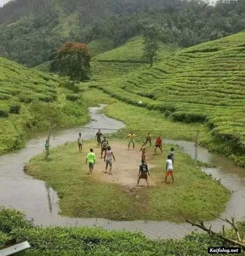
<svg viewBox="0 0 245 256">
<path fill-rule="evenodd" d="M 141 164 L 141 152 L 137 153 L 139 151 L 138 146 L 135 150 L 127 150 L 127 145 L 123 143 L 112 143 L 110 146 L 115 155 L 115 162 L 112 163 L 112 175 L 104 173 L 106 164 L 104 163 L 104 159 L 99 158 L 101 156 L 100 149 L 95 149 L 97 160 L 94 175 L 92 175 L 93 179 L 125 186 L 135 186 L 138 179 L 139 165 Z M 153 168 L 154 166 L 148 164 L 148 167 Z M 141 180 L 140 185 L 146 186 L 147 184 L 145 180 Z M 154 185 L 151 179 L 150 185 Z"/>
</svg>

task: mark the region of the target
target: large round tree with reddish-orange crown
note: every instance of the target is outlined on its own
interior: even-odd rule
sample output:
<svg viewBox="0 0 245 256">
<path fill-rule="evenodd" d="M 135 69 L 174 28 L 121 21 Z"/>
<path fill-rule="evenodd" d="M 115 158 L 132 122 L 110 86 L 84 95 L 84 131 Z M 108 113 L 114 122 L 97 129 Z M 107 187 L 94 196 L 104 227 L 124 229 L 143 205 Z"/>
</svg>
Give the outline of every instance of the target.
<svg viewBox="0 0 245 256">
<path fill-rule="evenodd" d="M 68 42 L 58 49 L 50 71 L 57 71 L 61 76 L 68 76 L 75 85 L 75 80 L 89 79 L 89 61 L 89 49 L 86 44 Z"/>
</svg>

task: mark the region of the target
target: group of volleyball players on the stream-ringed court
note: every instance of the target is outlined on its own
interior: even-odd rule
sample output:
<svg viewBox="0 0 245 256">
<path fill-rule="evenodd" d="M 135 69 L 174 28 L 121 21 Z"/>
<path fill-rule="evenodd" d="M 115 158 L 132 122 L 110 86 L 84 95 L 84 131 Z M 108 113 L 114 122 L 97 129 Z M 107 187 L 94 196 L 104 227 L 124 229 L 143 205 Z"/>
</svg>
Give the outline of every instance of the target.
<svg viewBox="0 0 245 256">
<path fill-rule="evenodd" d="M 107 138 L 104 136 L 103 140 L 101 140 L 102 137 L 103 137 L 103 134 L 101 133 L 101 130 L 99 129 L 95 135 L 95 139 L 97 140 L 97 147 L 101 147 L 101 158 L 103 158 L 103 153 L 104 153 L 104 162 L 106 163 L 105 173 L 107 173 L 108 167 L 110 166 L 109 174 L 112 175 L 112 158 L 115 161 L 115 156 L 112 152 L 112 149 L 109 145 Z M 126 139 L 127 137 L 129 138 L 128 150 L 130 150 L 131 143 L 133 144 L 133 150 L 134 150 L 134 148 L 135 148 L 134 139 L 135 139 L 135 137 L 140 137 L 140 136 L 135 135 L 132 131 L 124 139 Z M 142 143 L 141 149 L 140 149 L 140 151 L 138 151 L 138 153 L 141 152 L 141 165 L 140 165 L 139 173 L 138 173 L 137 186 L 139 184 L 140 179 L 146 180 L 147 185 L 150 186 L 149 182 L 148 182 L 148 176 L 150 176 L 150 173 L 149 173 L 149 169 L 148 169 L 148 166 L 146 163 L 146 156 L 147 156 L 146 145 L 147 145 L 147 143 L 149 143 L 150 147 L 152 147 L 152 136 L 150 133 L 147 134 L 146 141 Z M 82 152 L 82 146 L 83 146 L 83 138 L 82 138 L 82 134 L 80 133 L 79 137 L 78 137 L 79 152 Z M 161 139 L 160 135 L 156 138 L 156 141 L 155 141 L 155 150 L 154 150 L 155 155 L 156 155 L 157 148 L 159 148 L 161 151 L 161 154 L 163 154 L 162 139 Z M 95 165 L 95 153 L 92 148 L 90 148 L 90 152 L 86 157 L 86 164 L 87 163 L 89 163 L 89 173 L 88 174 L 92 175 L 94 165 Z M 168 176 L 171 176 L 172 180 L 174 182 L 173 163 L 174 163 L 174 148 L 171 148 L 170 154 L 167 156 L 167 161 L 166 161 L 165 182 L 167 182 Z"/>
</svg>

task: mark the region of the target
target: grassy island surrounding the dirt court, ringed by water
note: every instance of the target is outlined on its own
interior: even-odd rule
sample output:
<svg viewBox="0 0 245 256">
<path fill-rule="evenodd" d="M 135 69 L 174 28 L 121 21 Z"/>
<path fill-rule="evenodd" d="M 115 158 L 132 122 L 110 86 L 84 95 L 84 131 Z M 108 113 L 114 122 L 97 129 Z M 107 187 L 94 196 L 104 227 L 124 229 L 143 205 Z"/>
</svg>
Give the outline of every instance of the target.
<svg viewBox="0 0 245 256">
<path fill-rule="evenodd" d="M 111 142 L 112 148 L 115 143 L 118 141 Z M 48 161 L 39 155 L 26 168 L 29 175 L 46 181 L 58 192 L 62 215 L 112 220 L 167 220 L 177 223 L 184 222 L 186 218 L 208 220 L 212 216 L 203 209 L 219 215 L 230 197 L 227 189 L 203 173 L 187 154 L 177 148 L 174 184 L 162 183 L 166 157 L 153 156 L 153 149 L 149 149 L 147 160 L 154 165 L 150 171 L 150 183 L 154 181 L 154 186 L 150 188 L 135 189 L 138 166 L 135 166 L 135 173 L 132 174 L 135 179 L 133 186 L 99 180 L 96 176 L 104 171 L 104 160 L 99 159 L 99 148 L 94 149 L 97 163 L 94 175 L 89 177 L 85 159 L 91 147 L 95 148 L 95 142 L 86 141 L 84 153 L 80 154 L 76 143 L 63 145 L 51 151 Z M 169 145 L 164 146 L 165 155 L 169 148 Z M 127 142 L 121 151 L 127 151 Z M 116 157 L 120 158 L 120 154 Z M 118 171 L 124 172 L 123 163 Z M 114 179 L 117 179 L 114 175 Z M 144 181 L 141 184 L 144 185 Z"/>
</svg>

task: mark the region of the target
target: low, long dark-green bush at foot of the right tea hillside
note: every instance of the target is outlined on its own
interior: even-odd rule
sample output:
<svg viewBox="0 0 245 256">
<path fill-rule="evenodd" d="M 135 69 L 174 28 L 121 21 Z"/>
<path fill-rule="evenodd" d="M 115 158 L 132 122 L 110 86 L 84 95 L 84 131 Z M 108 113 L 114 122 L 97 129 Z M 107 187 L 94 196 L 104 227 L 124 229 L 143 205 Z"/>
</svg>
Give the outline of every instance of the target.
<svg viewBox="0 0 245 256">
<path fill-rule="evenodd" d="M 205 122 L 206 120 L 206 116 L 202 113 L 191 113 L 181 111 L 173 113 L 172 118 L 174 121 L 186 123 Z"/>
</svg>

